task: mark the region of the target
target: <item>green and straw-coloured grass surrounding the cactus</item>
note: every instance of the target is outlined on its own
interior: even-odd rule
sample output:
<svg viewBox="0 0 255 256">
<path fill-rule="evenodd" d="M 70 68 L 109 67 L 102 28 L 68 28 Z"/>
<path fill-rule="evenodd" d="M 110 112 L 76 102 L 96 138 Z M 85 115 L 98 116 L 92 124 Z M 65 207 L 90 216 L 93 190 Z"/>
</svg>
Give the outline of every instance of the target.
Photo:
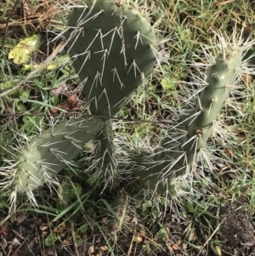
<svg viewBox="0 0 255 256">
<path fill-rule="evenodd" d="M 14 162 L 4 159 L 12 159 L 18 154 L 17 150 L 26 145 L 28 137 L 62 118 L 58 117 L 59 113 L 51 112 L 53 108 L 57 109 L 71 95 L 77 94 L 77 115 L 88 109 L 71 61 L 59 60 L 58 47 L 63 45 L 62 41 L 50 43 L 49 48 L 53 50 L 47 55 L 46 43 L 50 35 L 44 32 L 63 30 L 69 8 L 78 1 L 47 1 L 40 6 L 37 1 L 28 3 L 28 6 L 23 5 L 23 9 L 18 5 L 9 21 L 14 1 L 0 3 L 0 47 L 4 41 L 0 51 L 0 167 L 7 169 Z M 129 161 L 123 146 L 133 141 L 137 147 L 146 146 L 152 150 L 160 144 L 169 128 L 166 122 L 173 121 L 174 115 L 187 107 L 185 99 L 195 91 L 185 82 L 203 75 L 195 71 L 191 62 L 207 61 L 202 49 L 212 51 L 217 57 L 215 32 L 231 37 L 236 24 L 237 31 L 244 27 L 244 39 L 250 36 L 254 40 L 255 37 L 251 1 L 222 4 L 208 0 L 161 0 L 148 4 L 155 4 L 150 18 L 156 20 L 155 28 L 163 42 L 160 44 L 163 48 L 160 59 L 167 60 L 167 65 L 163 62 L 161 67 L 156 65 L 146 86 L 139 88 L 118 116 L 120 120 L 114 121 L 116 142 L 119 142 L 116 145 L 117 156 L 122 166 L 119 174 L 121 183 L 126 179 L 125 163 Z M 10 49 L 20 39 L 40 31 L 44 43 L 33 58 L 44 60 L 44 67 L 31 67 L 31 71 L 24 71 L 20 65 L 8 60 Z M 46 67 L 54 61 L 57 63 L 54 69 L 48 70 Z M 222 225 L 219 217 L 221 204 L 243 200 L 246 212 L 254 221 L 254 73 L 253 69 L 253 74 L 242 76 L 241 87 L 232 93 L 236 100 L 229 97 L 229 104 L 223 108 L 217 130 L 207 142 L 209 161 L 200 162 L 194 173 L 176 182 L 181 187 L 178 196 L 166 199 L 148 192 L 140 200 L 121 194 L 119 200 L 126 207 L 120 207 L 116 194 L 122 187 L 113 191 L 106 187 L 102 192 L 105 185 L 94 179 L 94 169 L 84 172 L 94 163 L 90 148 L 77 157 L 76 167 L 65 168 L 59 175 L 59 183 L 66 184 L 71 191 L 65 203 L 59 197 L 62 194 L 58 187 L 48 189 L 47 185 L 35 192 L 37 208 L 27 201 L 26 196 L 19 195 L 15 206 L 17 213 L 30 212 L 34 218 L 38 215 L 48 219 L 54 227 L 67 226 L 60 235 L 49 231 L 42 240 L 42 251 L 54 247 L 54 243 L 64 242 L 66 237 L 71 237 L 76 247 L 84 241 L 96 247 L 94 236 L 99 236 L 100 245 L 106 245 L 106 253 L 111 252 L 112 255 L 114 250 L 118 252 L 116 255 L 160 252 L 165 252 L 165 255 L 206 255 L 206 252 L 220 255 L 224 243 L 218 233 Z M 53 94 L 53 89 L 65 84 L 67 90 L 59 95 Z M 59 112 L 65 117 L 70 115 L 60 108 Z M 135 122 L 123 121 L 122 118 Z M 4 212 L 1 225 L 15 214 L 13 211 L 8 213 L 8 196 L 8 188 L 4 188 L 0 199 Z M 174 232 L 177 232 L 176 236 Z M 129 245 L 123 248 L 124 240 Z M 75 248 L 71 253 L 78 255 Z"/>
</svg>

